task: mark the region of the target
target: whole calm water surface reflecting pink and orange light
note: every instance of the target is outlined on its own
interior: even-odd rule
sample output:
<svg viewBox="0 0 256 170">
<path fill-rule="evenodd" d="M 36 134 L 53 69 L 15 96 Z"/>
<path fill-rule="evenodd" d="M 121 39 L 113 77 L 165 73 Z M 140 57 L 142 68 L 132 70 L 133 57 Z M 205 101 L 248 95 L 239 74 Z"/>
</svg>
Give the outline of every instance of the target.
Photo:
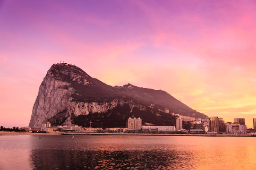
<svg viewBox="0 0 256 170">
<path fill-rule="evenodd" d="M 256 170 L 256 137 L 0 136 L 0 170 Z"/>
</svg>

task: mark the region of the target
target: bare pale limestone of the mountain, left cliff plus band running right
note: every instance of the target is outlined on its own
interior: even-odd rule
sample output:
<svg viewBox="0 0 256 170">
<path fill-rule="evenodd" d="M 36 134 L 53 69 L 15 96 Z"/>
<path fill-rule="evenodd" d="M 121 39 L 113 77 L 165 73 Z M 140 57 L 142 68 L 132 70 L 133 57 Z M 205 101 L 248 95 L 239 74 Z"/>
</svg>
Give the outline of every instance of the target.
<svg viewBox="0 0 256 170">
<path fill-rule="evenodd" d="M 85 77 L 89 77 L 87 74 L 81 76 L 79 72 L 55 70 L 53 69 L 55 66 L 76 70 L 74 67 L 68 67 L 69 65 L 66 64 L 55 64 L 51 67 L 39 87 L 29 127 L 40 127 L 43 121 L 53 121 L 52 118 L 56 118 L 58 114 L 62 116 L 62 121 L 59 122 L 59 125 L 71 126 L 72 114 L 77 117 L 78 115 L 102 113 L 115 108 L 118 104 L 120 106 L 125 103 L 129 104 L 130 111 L 134 107 L 145 110 L 145 106 L 140 106 L 126 98 L 116 98 L 111 102 L 78 102 L 73 100 L 71 95 L 79 93 L 75 93 L 76 90 L 71 86 L 71 83 L 75 81 L 76 84 L 82 84 L 84 86 L 92 86 L 93 83 L 85 79 Z"/>
</svg>

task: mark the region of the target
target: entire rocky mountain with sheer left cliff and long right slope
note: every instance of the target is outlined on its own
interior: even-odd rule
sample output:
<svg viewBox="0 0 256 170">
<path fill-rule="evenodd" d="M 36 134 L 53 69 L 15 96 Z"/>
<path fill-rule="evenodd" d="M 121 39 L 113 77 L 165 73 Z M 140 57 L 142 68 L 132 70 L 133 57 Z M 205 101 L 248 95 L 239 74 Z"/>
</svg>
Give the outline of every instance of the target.
<svg viewBox="0 0 256 170">
<path fill-rule="evenodd" d="M 206 118 L 162 90 L 107 85 L 77 66 L 58 63 L 48 70 L 35 100 L 29 127 L 43 121 L 52 125 L 126 127 L 129 117 L 141 117 L 143 123 L 174 126 L 171 114 Z"/>
</svg>

